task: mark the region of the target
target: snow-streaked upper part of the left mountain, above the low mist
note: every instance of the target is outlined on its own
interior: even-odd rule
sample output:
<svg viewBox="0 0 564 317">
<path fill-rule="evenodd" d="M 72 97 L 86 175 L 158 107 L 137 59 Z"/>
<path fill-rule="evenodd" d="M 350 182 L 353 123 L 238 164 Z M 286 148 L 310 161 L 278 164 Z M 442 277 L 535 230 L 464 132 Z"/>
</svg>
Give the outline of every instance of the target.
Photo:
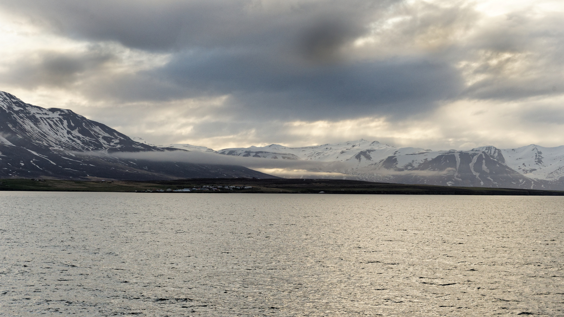
<svg viewBox="0 0 564 317">
<path fill-rule="evenodd" d="M 2 144 L 27 149 L 72 151 L 161 150 L 140 144 L 126 135 L 68 109 L 41 108 L 0 91 Z"/>
</svg>

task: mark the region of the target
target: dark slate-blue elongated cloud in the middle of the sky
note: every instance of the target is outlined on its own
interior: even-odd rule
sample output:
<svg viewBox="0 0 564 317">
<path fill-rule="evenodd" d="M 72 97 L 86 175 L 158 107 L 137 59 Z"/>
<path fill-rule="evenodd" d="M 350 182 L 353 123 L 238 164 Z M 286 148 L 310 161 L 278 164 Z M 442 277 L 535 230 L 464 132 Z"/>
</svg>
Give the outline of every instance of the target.
<svg viewBox="0 0 564 317">
<path fill-rule="evenodd" d="M 179 57 L 158 76 L 212 95 L 231 93 L 250 110 L 291 110 L 306 117 L 421 111 L 437 99 L 456 96 L 461 86 L 457 72 L 440 61 L 301 66 L 277 65 L 252 54 Z"/>
</svg>

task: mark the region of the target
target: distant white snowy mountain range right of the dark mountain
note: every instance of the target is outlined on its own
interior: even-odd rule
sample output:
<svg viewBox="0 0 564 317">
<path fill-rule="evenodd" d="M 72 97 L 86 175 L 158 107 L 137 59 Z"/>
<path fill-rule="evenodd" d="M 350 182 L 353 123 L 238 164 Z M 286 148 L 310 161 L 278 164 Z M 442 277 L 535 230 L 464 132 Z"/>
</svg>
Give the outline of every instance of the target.
<svg viewBox="0 0 564 317">
<path fill-rule="evenodd" d="M 482 146 L 472 150 L 434 151 L 395 148 L 360 139 L 302 148 L 277 144 L 230 148 L 217 153 L 340 162 L 337 172 L 369 181 L 564 190 L 564 146 L 528 145 L 517 149 Z"/>
</svg>

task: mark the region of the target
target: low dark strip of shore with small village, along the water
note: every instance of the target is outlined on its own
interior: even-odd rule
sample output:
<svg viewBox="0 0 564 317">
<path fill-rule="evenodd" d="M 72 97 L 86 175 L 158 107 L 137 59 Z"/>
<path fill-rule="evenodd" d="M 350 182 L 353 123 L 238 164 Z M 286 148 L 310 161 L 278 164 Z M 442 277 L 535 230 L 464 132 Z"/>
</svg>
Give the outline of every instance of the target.
<svg viewBox="0 0 564 317">
<path fill-rule="evenodd" d="M 204 186 L 208 186 L 205 188 Z M 223 187 L 226 186 L 226 187 Z M 213 187 L 213 188 L 212 188 Z M 227 187 L 241 187 L 231 188 Z M 252 187 L 244 189 L 243 187 Z M 166 191 L 169 190 L 170 191 Z M 172 190 L 191 191 L 173 192 Z M 193 190 L 199 189 L 199 190 Z M 212 190 L 213 189 L 213 190 Z M 159 191 L 162 190 L 162 191 Z M 90 191 L 142 194 L 353 194 L 353 195 L 521 195 L 564 196 L 564 191 L 495 187 L 390 184 L 355 180 L 301 178 L 192 178 L 161 181 L 0 180 L 0 191 Z"/>
</svg>

